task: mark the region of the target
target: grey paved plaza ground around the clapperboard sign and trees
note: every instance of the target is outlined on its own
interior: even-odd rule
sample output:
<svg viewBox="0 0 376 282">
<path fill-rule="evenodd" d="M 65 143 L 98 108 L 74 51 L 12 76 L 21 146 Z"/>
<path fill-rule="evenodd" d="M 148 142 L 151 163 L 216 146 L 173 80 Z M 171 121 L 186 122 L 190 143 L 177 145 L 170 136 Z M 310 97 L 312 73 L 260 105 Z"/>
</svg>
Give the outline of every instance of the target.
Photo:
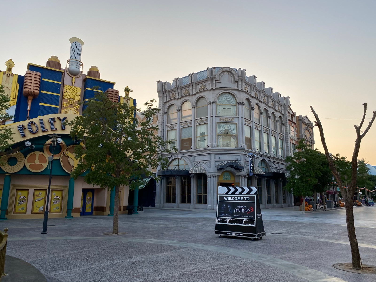
<svg viewBox="0 0 376 282">
<path fill-rule="evenodd" d="M 376 265 L 376 208 L 354 208 L 364 264 Z M 350 262 L 344 209 L 299 212 L 262 209 L 262 240 L 218 237 L 215 212 L 145 208 L 112 217 L 88 216 L 7 220 L 7 255 L 36 267 L 49 282 L 59 281 L 374 281 L 331 265 Z M 274 234 L 273 234 L 274 233 Z M 7 280 L 10 281 L 10 280 Z"/>
</svg>

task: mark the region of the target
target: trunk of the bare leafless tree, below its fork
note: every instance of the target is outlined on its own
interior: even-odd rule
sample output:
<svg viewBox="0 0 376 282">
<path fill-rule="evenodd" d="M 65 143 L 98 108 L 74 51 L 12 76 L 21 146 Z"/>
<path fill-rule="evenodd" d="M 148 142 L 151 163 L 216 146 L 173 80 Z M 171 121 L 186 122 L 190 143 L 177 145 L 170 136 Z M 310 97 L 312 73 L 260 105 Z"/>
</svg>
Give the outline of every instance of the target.
<svg viewBox="0 0 376 282">
<path fill-rule="evenodd" d="M 356 240 L 356 234 L 355 234 L 353 197 L 350 197 L 350 195 L 349 197 L 346 197 L 345 199 L 345 209 L 346 209 L 347 236 L 349 236 L 349 241 L 350 241 L 353 268 L 362 269 L 362 261 L 361 261 L 360 253 L 359 253 L 358 240 Z"/>
</svg>

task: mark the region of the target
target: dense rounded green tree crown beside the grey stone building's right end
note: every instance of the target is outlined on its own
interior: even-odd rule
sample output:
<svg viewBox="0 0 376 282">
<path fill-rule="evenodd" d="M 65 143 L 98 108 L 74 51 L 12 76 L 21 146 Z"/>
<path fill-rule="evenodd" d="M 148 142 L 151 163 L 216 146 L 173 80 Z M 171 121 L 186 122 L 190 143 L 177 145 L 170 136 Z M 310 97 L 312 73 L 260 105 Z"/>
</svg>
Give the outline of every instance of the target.
<svg viewBox="0 0 376 282">
<path fill-rule="evenodd" d="M 303 198 L 314 192 L 322 193 L 331 181 L 331 171 L 324 154 L 307 147 L 303 140 L 296 146 L 297 152 L 286 158 L 290 177 L 286 188 Z M 303 209 L 304 210 L 304 209 Z"/>
</svg>

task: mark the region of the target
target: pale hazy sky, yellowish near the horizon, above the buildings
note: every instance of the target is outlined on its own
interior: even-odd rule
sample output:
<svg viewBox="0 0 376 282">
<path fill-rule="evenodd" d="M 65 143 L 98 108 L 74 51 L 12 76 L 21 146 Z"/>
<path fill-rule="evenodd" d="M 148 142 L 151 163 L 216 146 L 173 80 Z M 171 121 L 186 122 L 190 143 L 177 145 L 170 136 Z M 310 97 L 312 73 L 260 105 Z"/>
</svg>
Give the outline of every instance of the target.
<svg viewBox="0 0 376 282">
<path fill-rule="evenodd" d="M 84 73 L 96 65 L 115 89 L 133 89 L 142 108 L 158 99 L 156 81 L 207 67 L 246 69 L 265 87 L 289 96 L 297 115 L 323 124 L 329 152 L 351 159 L 367 103 L 376 111 L 376 1 L 6 1 L 0 70 L 69 59 L 78 37 Z M 3 62 L 3 63 L 2 63 Z M 317 127 L 315 147 L 323 152 Z M 376 165 L 376 122 L 362 139 L 359 159 Z"/>
</svg>

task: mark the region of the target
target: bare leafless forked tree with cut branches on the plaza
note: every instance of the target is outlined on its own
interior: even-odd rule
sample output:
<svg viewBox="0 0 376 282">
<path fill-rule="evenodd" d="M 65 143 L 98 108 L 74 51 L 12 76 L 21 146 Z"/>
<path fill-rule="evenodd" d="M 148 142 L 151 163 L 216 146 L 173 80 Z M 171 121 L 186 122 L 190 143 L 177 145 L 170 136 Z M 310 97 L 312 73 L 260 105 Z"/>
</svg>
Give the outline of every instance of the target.
<svg viewBox="0 0 376 282">
<path fill-rule="evenodd" d="M 356 185 L 356 177 L 357 177 L 357 170 L 358 170 L 358 154 L 359 154 L 360 143 L 362 141 L 362 138 L 367 134 L 368 130 L 370 130 L 372 123 L 376 117 L 376 111 L 374 111 L 370 123 L 368 124 L 367 128 L 361 133 L 361 128 L 365 120 L 365 113 L 367 111 L 367 103 L 364 103 L 363 106 L 364 106 L 364 112 L 363 112 L 362 121 L 359 124 L 359 126 L 354 125 L 355 131 L 356 131 L 356 141 L 355 141 L 354 153 L 353 153 L 352 160 L 351 160 L 351 167 L 352 167 L 351 181 L 350 181 L 350 186 L 348 187 L 343 186 L 341 175 L 340 173 L 338 173 L 331 155 L 329 155 L 329 151 L 328 151 L 326 141 L 325 141 L 324 130 L 323 130 L 323 126 L 321 124 L 320 118 L 318 118 L 318 115 L 316 114 L 315 110 L 311 106 L 311 112 L 314 114 L 316 118 L 315 126 L 317 126 L 320 131 L 321 142 L 323 143 L 325 155 L 329 162 L 329 167 L 335 179 L 337 180 L 341 194 L 345 201 L 347 235 L 350 241 L 352 266 L 354 269 L 357 269 L 357 270 L 362 269 L 362 261 L 361 261 L 360 253 L 359 253 L 358 240 L 356 239 L 356 234 L 355 234 L 354 211 L 353 211 L 353 197 L 354 197 L 354 193 L 356 189 L 355 185 Z"/>
</svg>

